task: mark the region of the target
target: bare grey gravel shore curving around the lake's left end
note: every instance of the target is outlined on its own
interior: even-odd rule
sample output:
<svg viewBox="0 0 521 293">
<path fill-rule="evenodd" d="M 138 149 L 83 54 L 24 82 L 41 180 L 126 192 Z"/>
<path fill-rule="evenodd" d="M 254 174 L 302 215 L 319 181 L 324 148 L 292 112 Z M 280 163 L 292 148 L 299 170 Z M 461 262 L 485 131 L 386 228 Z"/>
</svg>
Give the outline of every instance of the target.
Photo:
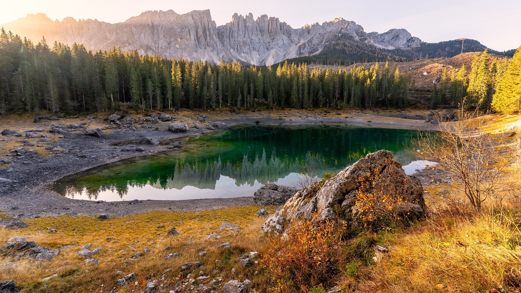
<svg viewBox="0 0 521 293">
<path fill-rule="evenodd" d="M 293 111 L 295 112 L 295 111 Z M 301 111 L 304 112 L 304 111 Z M 336 118 L 333 113 L 240 113 L 228 112 L 221 114 L 224 117 L 215 117 L 213 122 L 220 121 L 228 126 L 238 124 L 349 124 L 349 125 L 369 125 L 373 127 L 392 127 L 410 129 L 433 129 L 436 125 L 424 123 L 425 116 L 420 115 L 410 117 L 385 117 L 369 114 L 367 112 L 342 114 Z M 365 114 L 367 113 L 367 114 Z M 288 115 L 289 114 L 289 115 Z M 304 114 L 306 117 L 302 117 Z M 322 114 L 322 113 L 320 113 Z M 336 113 L 335 113 L 336 114 Z M 297 117 L 291 117 L 291 116 Z M 350 116 L 353 115 L 353 116 Z M 203 115 L 201 115 L 203 116 Z M 200 118 L 198 116 L 197 118 Z M 299 117 L 300 116 L 300 117 Z M 128 117 L 128 116 L 127 116 Z M 206 117 L 206 116 L 205 116 Z M 88 117 L 90 118 L 90 117 Z M 146 119 L 146 118 L 145 118 Z M 132 158 L 157 155 L 173 149 L 182 148 L 180 142 L 188 136 L 201 135 L 212 130 L 212 127 L 204 127 L 206 119 L 189 118 L 185 121 L 190 126 L 188 132 L 170 132 L 168 125 L 170 122 L 149 121 L 151 127 L 122 127 L 115 121 L 92 121 L 96 128 L 109 129 L 109 133 L 104 133 L 100 137 L 85 135 L 86 127 L 70 128 L 57 130 L 54 126 L 45 124 L 41 120 L 33 125 L 25 125 L 26 130 L 32 130 L 31 135 L 53 133 L 56 136 L 63 136 L 56 141 L 48 144 L 49 155 L 38 156 L 29 154 L 19 156 L 13 160 L 12 164 L 0 169 L 0 211 L 1 213 L 14 217 L 13 221 L 23 219 L 58 216 L 64 214 L 72 215 L 99 215 L 101 213 L 110 216 L 124 216 L 130 214 L 143 213 L 148 211 L 197 211 L 222 209 L 231 206 L 255 205 L 253 197 L 231 198 L 231 199 L 194 199 L 184 201 L 140 201 L 138 204 L 129 204 L 128 201 L 120 202 L 96 202 L 69 199 L 55 192 L 52 187 L 59 184 L 59 179 L 64 176 L 76 174 L 84 170 L 102 166 L 109 163 L 120 162 Z M 211 118 L 208 118 L 211 119 Z M 370 119 L 370 120 L 369 120 Z M 134 125 L 138 120 L 132 121 L 127 118 L 129 123 Z M 143 119 L 142 119 L 143 120 Z M 117 120 L 116 120 L 117 121 Z M 11 122 L 12 123 L 12 122 Z M 48 123 L 48 121 L 47 121 Z M 110 125 L 107 125 L 110 123 Z M 200 126 L 199 123 L 202 125 Z M 147 125 L 145 124 L 145 125 Z M 74 125 L 74 124 L 72 124 Z M 2 129 L 12 128 L 12 125 L 3 125 Z M 22 127 L 23 128 L 23 127 Z M 41 131 L 40 131 L 41 130 Z M 62 132 L 63 131 L 63 132 Z M 60 133 L 61 132 L 61 133 Z M 18 133 L 22 131 L 18 130 Z M 3 137 L 5 140 L 12 140 L 13 137 Z M 23 140 L 19 140 L 21 143 Z M 31 143 L 31 142 L 29 142 Z M 21 146 L 19 146 L 21 147 Z M 23 155 L 23 154 L 22 154 Z M 21 158 L 20 158 L 21 157 Z M 4 164 L 5 166 L 5 164 Z"/>
</svg>

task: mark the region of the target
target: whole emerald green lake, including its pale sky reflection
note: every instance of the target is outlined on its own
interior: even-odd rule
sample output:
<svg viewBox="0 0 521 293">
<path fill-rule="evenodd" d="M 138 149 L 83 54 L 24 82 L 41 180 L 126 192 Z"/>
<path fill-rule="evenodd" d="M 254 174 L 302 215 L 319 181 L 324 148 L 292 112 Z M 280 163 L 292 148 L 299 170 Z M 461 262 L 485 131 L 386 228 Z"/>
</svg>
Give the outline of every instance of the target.
<svg viewBox="0 0 521 293">
<path fill-rule="evenodd" d="M 268 182 L 336 173 L 367 153 L 392 151 L 403 165 L 416 130 L 350 125 L 238 126 L 182 141 L 183 148 L 64 178 L 56 190 L 89 200 L 184 200 L 253 196 Z"/>
</svg>

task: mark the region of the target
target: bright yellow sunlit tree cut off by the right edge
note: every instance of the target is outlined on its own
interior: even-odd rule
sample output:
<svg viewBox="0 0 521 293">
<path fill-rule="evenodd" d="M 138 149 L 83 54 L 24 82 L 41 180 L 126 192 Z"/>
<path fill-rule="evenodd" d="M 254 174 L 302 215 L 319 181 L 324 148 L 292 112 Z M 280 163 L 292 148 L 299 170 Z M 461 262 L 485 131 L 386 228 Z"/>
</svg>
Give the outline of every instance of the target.
<svg viewBox="0 0 521 293">
<path fill-rule="evenodd" d="M 497 81 L 492 109 L 501 114 L 514 114 L 521 110 L 521 46 Z"/>
</svg>

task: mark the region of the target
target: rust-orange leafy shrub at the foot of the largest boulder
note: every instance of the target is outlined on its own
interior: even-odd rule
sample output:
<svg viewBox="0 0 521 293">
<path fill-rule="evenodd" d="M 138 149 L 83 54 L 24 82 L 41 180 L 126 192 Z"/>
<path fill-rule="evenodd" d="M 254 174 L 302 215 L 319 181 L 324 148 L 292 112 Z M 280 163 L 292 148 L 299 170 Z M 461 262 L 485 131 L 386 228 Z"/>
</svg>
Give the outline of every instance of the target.
<svg viewBox="0 0 521 293">
<path fill-rule="evenodd" d="M 342 233 L 338 223 L 312 221 L 290 224 L 281 238 L 270 238 L 263 253 L 269 292 L 309 291 L 314 286 L 327 287 L 343 263 Z"/>
</svg>

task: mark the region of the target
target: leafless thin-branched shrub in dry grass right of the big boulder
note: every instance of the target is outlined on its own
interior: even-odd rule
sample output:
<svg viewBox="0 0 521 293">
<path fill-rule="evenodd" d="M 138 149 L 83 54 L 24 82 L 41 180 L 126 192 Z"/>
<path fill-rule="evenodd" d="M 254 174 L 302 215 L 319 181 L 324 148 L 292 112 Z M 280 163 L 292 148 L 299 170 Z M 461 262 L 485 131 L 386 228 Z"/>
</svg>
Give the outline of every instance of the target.
<svg viewBox="0 0 521 293">
<path fill-rule="evenodd" d="M 440 121 L 437 132 L 418 133 L 416 155 L 437 162 L 436 168 L 452 175 L 451 186 L 460 190 L 475 208 L 512 188 L 505 169 L 516 161 L 497 137 L 485 131 L 485 116 L 476 109 L 458 111 L 455 121 Z"/>
</svg>

